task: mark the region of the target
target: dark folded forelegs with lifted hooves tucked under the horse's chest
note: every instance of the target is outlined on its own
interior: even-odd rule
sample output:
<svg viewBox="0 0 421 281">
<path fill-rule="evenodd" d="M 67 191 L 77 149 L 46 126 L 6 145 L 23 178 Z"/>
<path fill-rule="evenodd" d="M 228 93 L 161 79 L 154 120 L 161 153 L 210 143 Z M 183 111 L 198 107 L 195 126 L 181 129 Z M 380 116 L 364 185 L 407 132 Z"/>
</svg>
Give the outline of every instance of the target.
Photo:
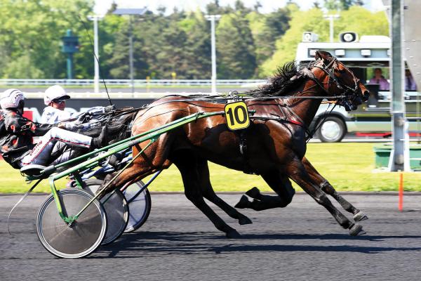
<svg viewBox="0 0 421 281">
<path fill-rule="evenodd" d="M 243 195 L 240 202 L 236 204 L 237 208 L 250 208 L 255 211 L 262 211 L 272 208 L 283 208 L 290 204 L 295 190 L 288 177 L 282 176 L 279 171 L 274 171 L 269 174 L 262 174 L 262 178 L 277 195 L 262 195 L 258 188 L 252 188 L 246 192 L 246 195 L 254 198 L 254 200 L 250 202 Z"/>
</svg>

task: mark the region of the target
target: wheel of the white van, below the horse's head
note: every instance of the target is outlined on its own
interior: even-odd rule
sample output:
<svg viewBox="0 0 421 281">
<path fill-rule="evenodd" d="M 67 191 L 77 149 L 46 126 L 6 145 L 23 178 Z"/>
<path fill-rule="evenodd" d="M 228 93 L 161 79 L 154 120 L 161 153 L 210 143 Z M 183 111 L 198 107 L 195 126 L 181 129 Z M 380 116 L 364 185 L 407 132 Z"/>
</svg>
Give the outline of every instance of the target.
<svg viewBox="0 0 421 281">
<path fill-rule="evenodd" d="M 324 119 L 323 124 L 317 130 L 317 136 L 323 143 L 338 143 L 342 141 L 345 133 L 347 133 L 345 123 L 342 119 L 334 116 Z"/>
</svg>

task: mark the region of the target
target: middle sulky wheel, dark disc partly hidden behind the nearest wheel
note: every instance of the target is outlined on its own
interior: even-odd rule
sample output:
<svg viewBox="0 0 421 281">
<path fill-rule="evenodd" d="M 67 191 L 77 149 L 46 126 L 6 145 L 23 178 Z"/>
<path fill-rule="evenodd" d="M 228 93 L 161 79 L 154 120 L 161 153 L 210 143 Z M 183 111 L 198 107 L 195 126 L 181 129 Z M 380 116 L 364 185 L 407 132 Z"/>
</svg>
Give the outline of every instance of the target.
<svg viewBox="0 0 421 281">
<path fill-rule="evenodd" d="M 85 190 L 92 195 L 100 188 L 102 181 L 88 179 L 85 181 Z M 107 213 L 107 233 L 101 244 L 109 244 L 117 240 L 123 234 L 128 223 L 128 204 L 120 190 L 115 190 L 111 197 L 109 194 L 100 200 L 102 207 Z"/>
</svg>

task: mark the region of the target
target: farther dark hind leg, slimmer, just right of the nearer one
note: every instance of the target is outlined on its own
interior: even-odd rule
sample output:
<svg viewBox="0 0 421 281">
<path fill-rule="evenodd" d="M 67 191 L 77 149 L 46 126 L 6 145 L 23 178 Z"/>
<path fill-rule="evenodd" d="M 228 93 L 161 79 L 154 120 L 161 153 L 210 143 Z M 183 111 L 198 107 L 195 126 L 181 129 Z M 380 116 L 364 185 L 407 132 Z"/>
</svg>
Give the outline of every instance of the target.
<svg viewBox="0 0 421 281">
<path fill-rule="evenodd" d="M 241 214 L 239 211 L 231 207 L 229 204 L 227 204 L 227 202 L 220 199 L 220 197 L 215 194 L 212 188 L 212 184 L 210 183 L 209 167 L 208 161 L 206 159 L 197 159 L 197 170 L 199 172 L 199 179 L 201 181 L 200 187 L 203 197 L 205 197 L 216 206 L 220 207 L 223 211 L 225 211 L 225 213 L 228 214 L 228 216 L 238 219 L 239 224 L 243 225 L 252 223 L 250 218 Z"/>
</svg>

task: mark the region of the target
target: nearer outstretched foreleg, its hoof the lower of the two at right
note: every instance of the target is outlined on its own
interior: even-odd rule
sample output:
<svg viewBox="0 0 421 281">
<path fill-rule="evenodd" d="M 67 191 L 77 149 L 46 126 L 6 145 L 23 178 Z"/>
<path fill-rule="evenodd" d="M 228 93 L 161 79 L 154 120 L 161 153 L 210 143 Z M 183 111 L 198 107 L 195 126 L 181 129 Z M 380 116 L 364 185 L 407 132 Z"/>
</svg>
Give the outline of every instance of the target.
<svg viewBox="0 0 421 281">
<path fill-rule="evenodd" d="M 330 202 L 326 194 L 321 191 L 319 186 L 313 183 L 300 159 L 295 158 L 292 162 L 290 162 L 290 164 L 286 166 L 286 171 L 288 173 L 288 177 L 300 185 L 300 187 L 305 192 L 307 192 L 307 194 L 313 197 L 317 203 L 325 207 L 330 212 L 330 214 L 332 214 L 335 220 L 338 221 L 342 228 L 349 229 L 350 235 L 354 236 L 363 233 L 362 226 L 349 221 L 346 216 L 344 216 L 338 209 L 335 208 L 335 206 L 333 206 L 332 202 Z"/>
</svg>

